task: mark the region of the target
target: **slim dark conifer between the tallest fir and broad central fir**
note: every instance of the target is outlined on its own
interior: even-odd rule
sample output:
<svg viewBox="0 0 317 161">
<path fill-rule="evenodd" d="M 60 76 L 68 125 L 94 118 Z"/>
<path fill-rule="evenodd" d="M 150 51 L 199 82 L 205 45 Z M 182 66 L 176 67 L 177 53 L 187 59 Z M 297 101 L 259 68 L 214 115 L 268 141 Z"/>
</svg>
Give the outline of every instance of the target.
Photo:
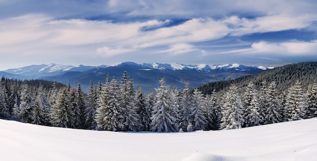
<svg viewBox="0 0 317 161">
<path fill-rule="evenodd" d="M 139 87 L 138 91 L 135 95 L 135 106 L 138 109 L 137 113 L 140 116 L 142 129 L 141 131 L 149 131 L 150 130 L 150 123 L 151 123 L 151 110 L 148 106 L 146 106 L 146 101 L 142 94 L 142 87 Z"/>
</svg>

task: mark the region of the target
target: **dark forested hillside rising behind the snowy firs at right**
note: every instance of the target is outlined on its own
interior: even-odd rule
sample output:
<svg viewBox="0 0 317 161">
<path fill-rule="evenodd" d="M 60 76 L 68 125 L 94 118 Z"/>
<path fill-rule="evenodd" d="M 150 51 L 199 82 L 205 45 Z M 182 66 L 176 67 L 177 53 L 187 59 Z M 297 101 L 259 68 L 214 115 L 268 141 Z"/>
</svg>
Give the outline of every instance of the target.
<svg viewBox="0 0 317 161">
<path fill-rule="evenodd" d="M 238 88 L 243 88 L 246 87 L 249 82 L 252 82 L 259 88 L 263 82 L 269 84 L 274 81 L 277 88 L 276 91 L 281 93 L 286 91 L 291 85 L 294 85 L 296 81 L 301 82 L 303 88 L 306 88 L 311 82 L 314 82 L 316 78 L 317 62 L 301 62 L 276 67 L 258 74 L 247 75 L 230 81 L 211 82 L 197 89 L 202 91 L 203 94 L 211 94 L 214 90 L 217 92 L 226 90 L 231 84 L 234 84 Z"/>
</svg>

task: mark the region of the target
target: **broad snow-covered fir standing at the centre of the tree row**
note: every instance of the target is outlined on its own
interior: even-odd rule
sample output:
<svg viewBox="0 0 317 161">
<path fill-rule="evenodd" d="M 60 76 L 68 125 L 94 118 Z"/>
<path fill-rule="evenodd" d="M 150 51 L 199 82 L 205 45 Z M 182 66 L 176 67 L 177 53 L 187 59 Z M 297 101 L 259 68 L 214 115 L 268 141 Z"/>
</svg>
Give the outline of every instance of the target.
<svg viewBox="0 0 317 161">
<path fill-rule="evenodd" d="M 151 131 L 154 132 L 177 132 L 179 126 L 175 118 L 175 109 L 171 106 L 165 78 L 160 79 L 160 88 L 155 89 L 155 102 L 152 107 Z"/>
</svg>

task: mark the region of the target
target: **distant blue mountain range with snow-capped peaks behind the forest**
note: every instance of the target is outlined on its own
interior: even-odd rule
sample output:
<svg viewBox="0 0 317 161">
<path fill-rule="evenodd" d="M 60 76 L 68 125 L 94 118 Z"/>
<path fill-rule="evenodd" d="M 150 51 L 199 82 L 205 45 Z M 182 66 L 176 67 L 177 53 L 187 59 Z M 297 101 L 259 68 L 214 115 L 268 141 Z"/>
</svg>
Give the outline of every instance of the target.
<svg viewBox="0 0 317 161">
<path fill-rule="evenodd" d="M 179 89 L 184 83 L 189 83 L 189 88 L 195 88 L 210 82 L 230 80 L 237 77 L 256 74 L 268 70 L 264 66 L 246 66 L 240 64 L 224 65 L 184 65 L 180 63 L 142 63 L 120 62 L 113 65 L 100 66 L 71 66 L 59 64 L 30 65 L 15 69 L 0 71 L 7 78 L 16 79 L 45 79 L 57 80 L 63 84 L 76 87 L 78 82 L 84 91 L 88 91 L 90 80 L 97 84 L 99 80 L 105 81 L 107 73 L 111 77 L 121 78 L 124 71 L 133 79 L 134 87 L 142 87 L 144 93 L 154 91 L 159 87 L 159 79 L 164 76 L 167 85 Z"/>
</svg>

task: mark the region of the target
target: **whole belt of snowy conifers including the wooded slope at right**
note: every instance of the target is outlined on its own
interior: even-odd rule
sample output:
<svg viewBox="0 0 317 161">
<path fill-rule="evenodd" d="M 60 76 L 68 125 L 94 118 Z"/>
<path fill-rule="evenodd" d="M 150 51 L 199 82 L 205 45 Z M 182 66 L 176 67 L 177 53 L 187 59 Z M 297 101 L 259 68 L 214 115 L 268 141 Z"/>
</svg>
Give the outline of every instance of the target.
<svg viewBox="0 0 317 161">
<path fill-rule="evenodd" d="M 317 62 L 274 68 L 190 90 L 166 85 L 143 95 L 125 71 L 84 93 L 81 84 L 0 82 L 0 118 L 37 125 L 107 130 L 190 132 L 226 130 L 317 116 Z"/>
</svg>

